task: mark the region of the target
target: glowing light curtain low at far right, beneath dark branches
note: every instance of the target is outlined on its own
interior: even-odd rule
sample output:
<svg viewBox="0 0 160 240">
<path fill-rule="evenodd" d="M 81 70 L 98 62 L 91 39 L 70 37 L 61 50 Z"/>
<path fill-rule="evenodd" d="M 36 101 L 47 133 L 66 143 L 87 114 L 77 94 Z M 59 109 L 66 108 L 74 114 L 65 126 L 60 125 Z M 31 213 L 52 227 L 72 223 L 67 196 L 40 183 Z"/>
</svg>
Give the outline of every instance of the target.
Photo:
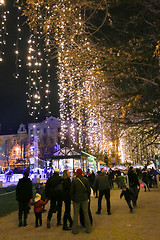
<svg viewBox="0 0 160 240">
<path fill-rule="evenodd" d="M 155 160 L 155 147 L 160 138 L 154 143 L 154 134 L 150 135 L 153 129 L 153 126 L 130 127 L 122 132 L 119 151 L 123 162 L 145 165 Z"/>
</svg>

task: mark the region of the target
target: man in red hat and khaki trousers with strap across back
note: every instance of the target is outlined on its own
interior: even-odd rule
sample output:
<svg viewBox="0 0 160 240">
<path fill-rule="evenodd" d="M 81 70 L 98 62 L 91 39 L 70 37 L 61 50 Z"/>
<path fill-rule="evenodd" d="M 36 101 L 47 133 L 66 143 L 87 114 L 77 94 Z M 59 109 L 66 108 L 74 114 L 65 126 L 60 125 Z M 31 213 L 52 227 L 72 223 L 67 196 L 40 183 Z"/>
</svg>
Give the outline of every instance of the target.
<svg viewBox="0 0 160 240">
<path fill-rule="evenodd" d="M 80 208 L 83 211 L 85 228 L 87 233 L 91 233 L 91 222 L 88 215 L 88 199 L 90 197 L 90 186 L 88 179 L 82 176 L 82 169 L 78 168 L 76 171 L 76 178 L 71 184 L 71 199 L 73 201 L 74 217 L 72 233 L 78 233 L 78 215 Z"/>
</svg>

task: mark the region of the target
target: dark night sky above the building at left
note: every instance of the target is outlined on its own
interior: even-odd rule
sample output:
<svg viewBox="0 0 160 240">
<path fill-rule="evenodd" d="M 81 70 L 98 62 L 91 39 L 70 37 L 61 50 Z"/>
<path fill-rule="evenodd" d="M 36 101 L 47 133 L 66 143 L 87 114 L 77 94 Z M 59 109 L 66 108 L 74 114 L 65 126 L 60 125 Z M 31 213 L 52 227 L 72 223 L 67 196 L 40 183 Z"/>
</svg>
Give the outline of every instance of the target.
<svg viewBox="0 0 160 240">
<path fill-rule="evenodd" d="M 6 9 L 10 11 L 7 14 L 6 29 L 8 36 L 5 36 L 7 44 L 3 46 L 4 61 L 0 62 L 0 124 L 1 134 L 14 134 L 20 123 L 27 124 L 34 122 L 29 116 L 29 111 L 26 106 L 26 91 L 28 86 L 26 84 L 26 76 L 28 73 L 26 66 L 28 39 L 30 36 L 30 30 L 27 24 L 24 24 L 21 32 L 22 40 L 19 43 L 19 56 L 21 59 L 22 68 L 19 70 L 19 78 L 16 79 L 14 74 L 16 73 L 16 56 L 14 54 L 15 48 L 13 44 L 17 39 L 16 19 L 17 9 L 13 6 L 13 0 L 6 1 Z M 21 22 L 24 22 L 24 17 L 21 18 Z M 50 87 L 50 103 L 51 112 L 54 117 L 59 116 L 58 105 L 58 89 L 56 80 L 56 60 L 52 63 L 51 71 L 51 87 Z M 45 115 L 41 116 L 40 120 L 44 120 Z"/>
</svg>

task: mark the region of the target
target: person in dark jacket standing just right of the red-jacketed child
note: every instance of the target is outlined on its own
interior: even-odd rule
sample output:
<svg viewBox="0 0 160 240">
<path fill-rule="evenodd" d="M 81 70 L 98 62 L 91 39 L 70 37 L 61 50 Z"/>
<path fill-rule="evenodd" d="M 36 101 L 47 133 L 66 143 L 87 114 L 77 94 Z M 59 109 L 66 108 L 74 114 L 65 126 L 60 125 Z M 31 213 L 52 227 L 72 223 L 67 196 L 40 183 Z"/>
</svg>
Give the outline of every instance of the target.
<svg viewBox="0 0 160 240">
<path fill-rule="evenodd" d="M 62 213 L 62 178 L 59 176 L 59 170 L 54 170 L 53 176 L 49 177 L 46 182 L 45 194 L 50 200 L 50 209 L 47 216 L 47 228 L 51 227 L 52 214 L 57 211 L 57 226 L 61 226 Z"/>
</svg>

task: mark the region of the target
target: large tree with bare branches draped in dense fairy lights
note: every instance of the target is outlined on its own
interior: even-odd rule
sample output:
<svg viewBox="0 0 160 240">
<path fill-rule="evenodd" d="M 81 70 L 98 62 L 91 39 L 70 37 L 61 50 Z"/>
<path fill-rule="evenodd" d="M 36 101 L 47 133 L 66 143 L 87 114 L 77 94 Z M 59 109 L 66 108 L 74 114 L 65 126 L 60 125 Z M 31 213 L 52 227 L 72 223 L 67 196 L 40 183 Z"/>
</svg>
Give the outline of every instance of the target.
<svg viewBox="0 0 160 240">
<path fill-rule="evenodd" d="M 27 0 L 23 6 L 58 59 L 62 140 L 67 120 L 73 144 L 91 152 L 107 151 L 114 131 L 134 127 L 137 141 L 144 129 L 147 136 L 152 128 L 158 133 L 158 1 Z"/>
</svg>

